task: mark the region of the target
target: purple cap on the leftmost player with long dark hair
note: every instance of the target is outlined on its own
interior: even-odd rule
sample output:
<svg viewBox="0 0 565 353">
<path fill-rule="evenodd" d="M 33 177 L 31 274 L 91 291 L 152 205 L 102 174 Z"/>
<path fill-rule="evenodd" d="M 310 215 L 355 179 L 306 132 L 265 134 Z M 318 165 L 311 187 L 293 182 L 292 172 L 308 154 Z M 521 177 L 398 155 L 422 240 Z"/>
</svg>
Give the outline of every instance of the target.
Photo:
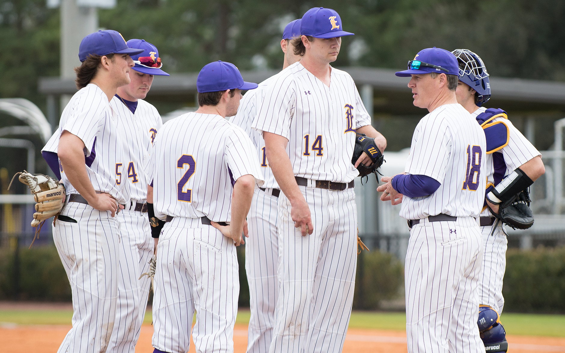
<svg viewBox="0 0 565 353">
<path fill-rule="evenodd" d="M 100 56 L 112 53 L 136 55 L 140 54 L 142 51 L 142 49 L 129 48 L 120 32 L 106 29 L 90 33 L 88 36 L 82 38 L 79 46 L 79 60 L 82 63 L 90 54 Z"/>
</svg>

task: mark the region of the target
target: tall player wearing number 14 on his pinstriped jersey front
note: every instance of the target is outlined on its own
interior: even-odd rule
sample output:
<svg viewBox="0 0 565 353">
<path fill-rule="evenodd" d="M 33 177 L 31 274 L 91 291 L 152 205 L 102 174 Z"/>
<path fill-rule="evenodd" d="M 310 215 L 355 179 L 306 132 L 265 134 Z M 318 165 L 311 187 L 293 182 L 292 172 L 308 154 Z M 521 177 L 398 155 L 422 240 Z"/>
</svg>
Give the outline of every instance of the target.
<svg viewBox="0 0 565 353">
<path fill-rule="evenodd" d="M 270 352 L 339 352 L 357 266 L 355 130 L 376 137 L 381 151 L 386 141 L 371 126 L 351 76 L 329 65 L 341 37 L 353 35 L 343 30 L 337 12 L 308 10 L 300 33 L 292 44 L 302 59 L 267 84 L 251 123 L 263 134 L 266 159 L 282 191 Z M 363 161 L 372 163 L 367 155 L 357 164 Z"/>
</svg>

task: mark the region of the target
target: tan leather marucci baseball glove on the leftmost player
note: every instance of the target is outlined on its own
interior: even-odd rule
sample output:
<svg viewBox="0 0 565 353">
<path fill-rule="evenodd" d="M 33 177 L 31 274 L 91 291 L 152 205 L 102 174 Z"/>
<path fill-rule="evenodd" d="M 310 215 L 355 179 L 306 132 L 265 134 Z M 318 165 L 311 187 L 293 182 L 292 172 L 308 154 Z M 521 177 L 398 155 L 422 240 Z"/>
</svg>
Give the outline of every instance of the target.
<svg viewBox="0 0 565 353">
<path fill-rule="evenodd" d="M 65 188 L 58 180 L 49 175 L 30 174 L 27 171 L 19 172 L 14 175 L 8 189 L 12 186 L 12 182 L 19 175 L 20 182 L 24 183 L 31 189 L 33 198 L 37 202 L 35 205 L 36 213 L 33 214 L 32 227 L 36 227 L 36 233 L 33 242 L 39 236 L 41 227 L 47 218 L 51 218 L 59 214 L 65 203 Z M 29 247 L 31 248 L 31 245 Z"/>
</svg>

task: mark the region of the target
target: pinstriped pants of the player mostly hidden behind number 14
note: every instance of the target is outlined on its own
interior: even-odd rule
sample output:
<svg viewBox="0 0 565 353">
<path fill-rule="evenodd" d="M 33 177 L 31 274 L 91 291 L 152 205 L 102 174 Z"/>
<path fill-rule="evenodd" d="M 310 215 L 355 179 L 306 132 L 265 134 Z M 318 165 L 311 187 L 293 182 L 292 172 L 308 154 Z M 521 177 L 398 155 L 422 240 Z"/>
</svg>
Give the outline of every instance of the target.
<svg viewBox="0 0 565 353">
<path fill-rule="evenodd" d="M 271 189 L 266 191 L 271 192 Z M 245 239 L 245 271 L 251 310 L 247 353 L 267 352 L 275 325 L 275 307 L 279 296 L 277 201 L 277 197 L 257 188 L 247 215 L 249 238 Z"/>
</svg>

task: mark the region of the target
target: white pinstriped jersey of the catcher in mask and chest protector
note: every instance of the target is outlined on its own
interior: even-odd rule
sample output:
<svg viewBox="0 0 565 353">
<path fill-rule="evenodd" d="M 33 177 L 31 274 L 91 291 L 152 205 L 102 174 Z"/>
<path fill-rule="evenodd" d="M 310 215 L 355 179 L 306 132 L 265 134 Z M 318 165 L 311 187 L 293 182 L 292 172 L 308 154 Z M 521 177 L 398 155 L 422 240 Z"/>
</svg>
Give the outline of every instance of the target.
<svg viewBox="0 0 565 353">
<path fill-rule="evenodd" d="M 476 119 L 477 116 L 484 111 L 486 111 L 486 108 L 480 107 L 475 112 L 471 113 L 471 116 Z M 497 178 L 494 177 L 495 170 L 498 172 L 497 174 L 500 174 L 500 177 L 503 178 L 512 173 L 512 171 L 523 165 L 525 162 L 536 156 L 541 156 L 540 151 L 538 151 L 533 144 L 529 142 L 514 125 L 512 125 L 512 122 L 510 122 L 509 119 L 498 117 L 494 118 L 491 122 L 496 121 L 502 121 L 505 123 L 508 127 L 510 137 L 508 144 L 505 147 L 502 147 L 497 152 L 489 153 L 485 156 L 486 187 L 490 184 L 498 185 L 498 183 L 502 180 L 498 176 Z M 490 211 L 488 208 L 485 207 L 483 209 L 481 216 L 490 217 Z"/>
</svg>

